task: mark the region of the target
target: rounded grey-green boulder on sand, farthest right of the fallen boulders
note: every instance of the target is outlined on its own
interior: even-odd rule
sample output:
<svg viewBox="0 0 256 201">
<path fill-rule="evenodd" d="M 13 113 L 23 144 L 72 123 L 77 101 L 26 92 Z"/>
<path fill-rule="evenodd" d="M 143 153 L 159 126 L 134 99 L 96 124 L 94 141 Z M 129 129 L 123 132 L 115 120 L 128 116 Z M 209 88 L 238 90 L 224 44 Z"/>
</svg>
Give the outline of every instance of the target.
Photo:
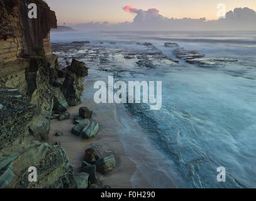
<svg viewBox="0 0 256 201">
<path fill-rule="evenodd" d="M 95 165 L 97 171 L 103 175 L 106 175 L 106 173 L 112 171 L 116 167 L 116 160 L 114 159 L 114 155 L 109 155 L 97 160 Z"/>
</svg>

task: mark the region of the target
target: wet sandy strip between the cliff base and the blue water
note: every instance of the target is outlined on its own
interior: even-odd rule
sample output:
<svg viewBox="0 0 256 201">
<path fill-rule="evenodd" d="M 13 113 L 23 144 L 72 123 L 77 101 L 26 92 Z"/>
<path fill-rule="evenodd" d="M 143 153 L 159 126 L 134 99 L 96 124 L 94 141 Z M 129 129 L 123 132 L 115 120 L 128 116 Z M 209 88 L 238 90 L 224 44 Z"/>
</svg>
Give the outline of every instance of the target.
<svg viewBox="0 0 256 201">
<path fill-rule="evenodd" d="M 47 143 L 54 144 L 60 142 L 60 146 L 64 148 L 70 163 L 74 166 L 74 172 L 79 172 L 82 161 L 84 160 L 85 151 L 92 144 L 97 147 L 99 155 L 102 157 L 113 154 L 116 160 L 116 168 L 106 175 L 97 174 L 97 185 L 99 188 L 105 185 L 111 188 L 131 188 L 131 177 L 136 171 L 136 166 L 125 153 L 123 144 L 117 133 L 117 129 L 121 129 L 121 124 L 116 117 L 116 107 L 114 104 L 96 104 L 93 100 L 93 94 L 88 93 L 88 89 L 93 89 L 93 80 L 84 82 L 85 100 L 82 100 L 78 106 L 70 106 L 67 111 L 70 112 L 70 119 L 58 121 L 52 119 L 50 122 L 50 134 Z M 71 129 L 75 125 L 73 117 L 78 114 L 79 107 L 86 106 L 92 112 L 91 121 L 99 123 L 99 131 L 95 138 L 82 139 L 71 133 Z M 55 133 L 62 132 L 64 135 L 56 137 Z"/>
</svg>

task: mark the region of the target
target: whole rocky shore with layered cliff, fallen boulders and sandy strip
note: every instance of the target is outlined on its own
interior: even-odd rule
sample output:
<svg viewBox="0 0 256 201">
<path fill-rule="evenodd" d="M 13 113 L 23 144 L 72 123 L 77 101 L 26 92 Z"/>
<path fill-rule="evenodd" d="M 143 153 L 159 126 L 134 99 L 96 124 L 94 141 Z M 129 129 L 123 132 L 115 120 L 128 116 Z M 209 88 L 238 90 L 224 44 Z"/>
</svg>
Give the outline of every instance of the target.
<svg viewBox="0 0 256 201">
<path fill-rule="evenodd" d="M 27 18 L 29 3 L 37 4 L 38 19 Z M 88 68 L 75 59 L 60 67 L 52 53 L 55 13 L 41 0 L 0 4 L 0 188 L 130 187 L 135 166 L 114 128 L 114 136 L 103 139 L 104 125 L 97 119 L 101 107 L 81 102 Z M 81 148 L 76 156 L 62 141 L 67 133 L 68 143 L 75 138 L 72 145 Z M 59 140 L 52 141 L 53 136 Z M 94 140 L 99 145 L 91 144 Z M 117 151 L 104 154 L 109 140 Z M 37 168 L 38 182 L 28 181 L 31 166 Z M 121 183 L 120 166 L 130 168 Z M 113 177 L 112 171 L 119 173 Z"/>
</svg>

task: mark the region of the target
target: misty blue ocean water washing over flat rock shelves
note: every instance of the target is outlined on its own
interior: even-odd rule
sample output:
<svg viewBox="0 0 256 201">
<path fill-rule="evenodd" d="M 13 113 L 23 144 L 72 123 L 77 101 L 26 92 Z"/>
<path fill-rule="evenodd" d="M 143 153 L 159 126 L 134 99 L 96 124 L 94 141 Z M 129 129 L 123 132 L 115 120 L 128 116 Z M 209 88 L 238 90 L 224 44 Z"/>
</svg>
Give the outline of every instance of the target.
<svg viewBox="0 0 256 201">
<path fill-rule="evenodd" d="M 58 48 L 72 41 L 91 43 L 79 50 Z M 145 41 L 153 47 L 143 46 Z M 86 62 L 87 79 L 106 81 L 111 75 L 125 82 L 162 81 L 159 111 L 150 111 L 147 104 L 116 104 L 125 128 L 118 131 L 120 140 L 137 169 L 131 178 L 134 188 L 256 187 L 255 32 L 53 32 L 51 42 L 63 65 L 72 58 Z M 165 42 L 237 62 L 187 63 Z M 123 57 L 133 52 L 147 57 L 150 67 Z M 179 63 L 159 59 L 156 52 Z M 226 170 L 225 182 L 216 179 L 220 166 Z"/>
</svg>

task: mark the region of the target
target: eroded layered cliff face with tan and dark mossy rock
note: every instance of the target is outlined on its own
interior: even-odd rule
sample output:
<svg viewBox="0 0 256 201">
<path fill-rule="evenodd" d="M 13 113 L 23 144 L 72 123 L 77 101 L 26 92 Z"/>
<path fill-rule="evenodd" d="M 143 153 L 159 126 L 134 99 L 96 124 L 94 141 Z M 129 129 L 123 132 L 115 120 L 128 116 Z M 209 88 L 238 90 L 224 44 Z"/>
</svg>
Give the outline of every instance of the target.
<svg viewBox="0 0 256 201">
<path fill-rule="evenodd" d="M 28 18 L 29 3 L 37 5 L 37 19 Z M 66 99 L 79 103 L 87 68 L 74 62 L 58 69 L 51 28 L 57 19 L 44 1 L 0 0 L 0 187 L 76 187 L 65 151 L 40 141 L 48 137 L 52 115 L 67 110 Z M 71 73 L 76 82 L 69 82 Z M 39 168 L 40 182 L 28 182 L 30 166 Z"/>
</svg>

